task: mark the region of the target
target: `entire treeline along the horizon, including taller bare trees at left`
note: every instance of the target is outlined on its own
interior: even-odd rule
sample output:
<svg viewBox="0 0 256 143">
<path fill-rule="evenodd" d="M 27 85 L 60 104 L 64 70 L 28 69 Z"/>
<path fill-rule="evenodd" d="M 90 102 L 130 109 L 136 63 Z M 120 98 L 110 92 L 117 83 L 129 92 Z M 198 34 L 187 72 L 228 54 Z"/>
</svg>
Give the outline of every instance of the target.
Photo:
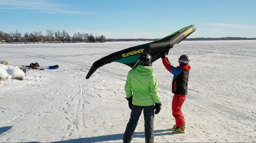
<svg viewBox="0 0 256 143">
<path fill-rule="evenodd" d="M 113 42 L 113 41 L 157 41 L 159 38 L 155 39 L 106 39 L 104 35 L 94 36 L 92 33 L 75 33 L 73 36 L 70 36 L 65 30 L 62 31 L 53 31 L 46 30 L 46 35 L 42 35 L 42 32 L 25 33 L 22 35 L 15 31 L 15 33 L 6 33 L 0 30 L 0 43 L 44 43 L 44 42 Z M 241 38 L 241 37 L 222 37 L 222 38 L 185 38 L 184 41 L 201 41 L 201 40 L 256 40 L 256 38 Z"/>
</svg>

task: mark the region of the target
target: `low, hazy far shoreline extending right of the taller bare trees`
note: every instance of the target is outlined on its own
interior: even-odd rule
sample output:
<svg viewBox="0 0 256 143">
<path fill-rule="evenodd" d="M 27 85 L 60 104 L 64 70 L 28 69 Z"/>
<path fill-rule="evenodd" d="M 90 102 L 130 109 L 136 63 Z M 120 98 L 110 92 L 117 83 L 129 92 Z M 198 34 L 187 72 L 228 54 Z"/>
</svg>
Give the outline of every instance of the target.
<svg viewBox="0 0 256 143">
<path fill-rule="evenodd" d="M 106 39 L 108 42 L 112 41 L 157 41 L 160 39 Z M 210 41 L 210 40 L 256 40 L 256 38 L 242 38 L 242 37 L 222 37 L 222 38 L 185 38 L 184 41 Z"/>
</svg>

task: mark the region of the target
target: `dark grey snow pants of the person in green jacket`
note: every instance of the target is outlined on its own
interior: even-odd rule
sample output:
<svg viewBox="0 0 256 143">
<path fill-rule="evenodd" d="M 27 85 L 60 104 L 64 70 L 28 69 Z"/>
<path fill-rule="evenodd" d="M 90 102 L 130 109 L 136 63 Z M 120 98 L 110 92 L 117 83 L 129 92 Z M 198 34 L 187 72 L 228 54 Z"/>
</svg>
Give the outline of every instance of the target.
<svg viewBox="0 0 256 143">
<path fill-rule="evenodd" d="M 151 106 L 137 106 L 132 105 L 130 120 L 126 126 L 123 141 L 131 142 L 135 128 L 143 109 L 144 126 L 145 126 L 145 142 L 154 142 L 154 105 Z"/>
</svg>

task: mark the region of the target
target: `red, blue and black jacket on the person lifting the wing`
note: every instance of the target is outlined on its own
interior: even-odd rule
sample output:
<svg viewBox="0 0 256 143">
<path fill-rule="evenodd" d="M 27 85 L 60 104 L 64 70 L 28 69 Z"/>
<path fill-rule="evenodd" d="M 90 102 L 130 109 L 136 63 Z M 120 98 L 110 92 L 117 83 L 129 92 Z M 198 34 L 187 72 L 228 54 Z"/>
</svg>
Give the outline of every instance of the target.
<svg viewBox="0 0 256 143">
<path fill-rule="evenodd" d="M 166 57 L 162 59 L 162 62 L 165 68 L 174 75 L 172 79 L 172 93 L 187 95 L 187 83 L 191 67 L 189 65 L 173 67 Z"/>
</svg>

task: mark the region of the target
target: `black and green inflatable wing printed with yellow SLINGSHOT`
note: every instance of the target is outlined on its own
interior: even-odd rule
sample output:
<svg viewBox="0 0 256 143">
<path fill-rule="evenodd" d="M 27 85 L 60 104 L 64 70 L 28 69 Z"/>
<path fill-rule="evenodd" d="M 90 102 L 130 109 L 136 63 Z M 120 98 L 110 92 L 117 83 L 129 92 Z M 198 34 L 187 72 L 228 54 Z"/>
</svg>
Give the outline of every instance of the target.
<svg viewBox="0 0 256 143">
<path fill-rule="evenodd" d="M 105 56 L 93 63 L 86 75 L 88 79 L 99 67 L 109 64 L 113 61 L 123 63 L 131 68 L 138 66 L 138 60 L 142 53 L 148 53 L 152 56 L 151 62 L 156 61 L 163 54 L 168 54 L 174 44 L 181 42 L 188 35 L 196 30 L 196 25 L 189 25 L 179 31 L 176 31 L 160 40 L 153 41 L 139 46 L 130 47 L 108 56 Z"/>
</svg>

